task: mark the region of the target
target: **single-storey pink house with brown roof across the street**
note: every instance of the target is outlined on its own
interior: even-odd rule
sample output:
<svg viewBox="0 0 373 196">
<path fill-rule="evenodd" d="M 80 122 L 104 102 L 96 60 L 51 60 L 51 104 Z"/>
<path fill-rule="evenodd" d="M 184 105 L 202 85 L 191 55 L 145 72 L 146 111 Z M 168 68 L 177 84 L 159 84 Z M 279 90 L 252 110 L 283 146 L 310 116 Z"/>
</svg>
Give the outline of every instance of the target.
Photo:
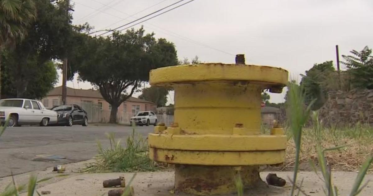
<svg viewBox="0 0 373 196">
<path fill-rule="evenodd" d="M 53 88 L 41 102 L 46 108 L 62 104 L 62 87 Z M 77 104 L 88 113 L 90 122 L 108 122 L 111 105 L 107 103 L 98 90 L 67 88 L 67 104 Z M 147 100 L 129 97 L 118 107 L 117 122 L 129 123 L 129 118 L 139 111 L 156 111 L 156 104 Z"/>
</svg>

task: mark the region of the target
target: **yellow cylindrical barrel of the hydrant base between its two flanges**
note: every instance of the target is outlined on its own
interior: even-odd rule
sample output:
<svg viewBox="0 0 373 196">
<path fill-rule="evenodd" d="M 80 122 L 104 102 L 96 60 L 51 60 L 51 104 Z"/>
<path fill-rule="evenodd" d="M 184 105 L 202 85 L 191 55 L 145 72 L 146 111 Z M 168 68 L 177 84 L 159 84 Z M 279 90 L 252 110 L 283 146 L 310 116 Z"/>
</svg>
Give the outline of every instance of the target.
<svg viewBox="0 0 373 196">
<path fill-rule="evenodd" d="M 243 124 L 247 134 L 260 130 L 259 85 L 247 82 L 176 84 L 175 122 L 186 133 L 232 134 Z"/>
</svg>

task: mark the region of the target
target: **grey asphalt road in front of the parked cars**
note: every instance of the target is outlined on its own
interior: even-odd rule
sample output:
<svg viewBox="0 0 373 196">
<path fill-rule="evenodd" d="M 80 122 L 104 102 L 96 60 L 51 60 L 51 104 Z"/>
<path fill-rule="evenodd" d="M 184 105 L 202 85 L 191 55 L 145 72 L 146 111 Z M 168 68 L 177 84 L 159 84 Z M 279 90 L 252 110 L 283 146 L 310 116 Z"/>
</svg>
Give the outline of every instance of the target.
<svg viewBox="0 0 373 196">
<path fill-rule="evenodd" d="M 152 130 L 153 126 L 136 127 L 135 133 L 146 137 Z M 11 170 L 13 174 L 20 174 L 91 159 L 97 155 L 97 140 L 104 147 L 109 146 L 105 136 L 109 132 L 115 133 L 116 139 L 124 142 L 126 136 L 131 135 L 132 127 L 74 125 L 7 128 L 0 137 L 0 177 L 10 175 Z"/>
</svg>

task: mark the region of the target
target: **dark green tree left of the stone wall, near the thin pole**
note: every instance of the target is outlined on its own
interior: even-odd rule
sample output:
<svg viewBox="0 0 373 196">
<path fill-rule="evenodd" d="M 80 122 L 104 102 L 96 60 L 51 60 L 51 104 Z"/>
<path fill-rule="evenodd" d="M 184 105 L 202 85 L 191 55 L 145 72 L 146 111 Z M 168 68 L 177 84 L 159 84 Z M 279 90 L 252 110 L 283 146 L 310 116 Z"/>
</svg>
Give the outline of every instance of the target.
<svg viewBox="0 0 373 196">
<path fill-rule="evenodd" d="M 320 64 L 314 64 L 311 69 L 305 71 L 302 75 L 300 85 L 305 93 L 305 103 L 309 104 L 312 100 L 316 102 L 312 105 L 312 110 L 321 108 L 327 96 L 326 81 L 335 72 L 333 61 L 326 61 Z"/>
</svg>

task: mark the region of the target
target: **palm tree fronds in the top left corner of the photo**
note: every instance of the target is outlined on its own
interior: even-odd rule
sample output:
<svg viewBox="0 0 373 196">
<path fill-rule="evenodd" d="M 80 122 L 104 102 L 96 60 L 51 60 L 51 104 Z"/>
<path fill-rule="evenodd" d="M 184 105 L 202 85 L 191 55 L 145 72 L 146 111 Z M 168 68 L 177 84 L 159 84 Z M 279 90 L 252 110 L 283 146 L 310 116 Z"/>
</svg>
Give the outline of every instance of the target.
<svg viewBox="0 0 373 196">
<path fill-rule="evenodd" d="M 1 0 L 0 2 L 0 67 L 1 54 L 11 49 L 27 34 L 27 27 L 36 17 L 33 0 Z M 1 73 L 1 69 L 0 69 Z M 1 77 L 0 77 L 1 80 Z M 0 83 L 1 91 L 1 83 Z"/>
</svg>

